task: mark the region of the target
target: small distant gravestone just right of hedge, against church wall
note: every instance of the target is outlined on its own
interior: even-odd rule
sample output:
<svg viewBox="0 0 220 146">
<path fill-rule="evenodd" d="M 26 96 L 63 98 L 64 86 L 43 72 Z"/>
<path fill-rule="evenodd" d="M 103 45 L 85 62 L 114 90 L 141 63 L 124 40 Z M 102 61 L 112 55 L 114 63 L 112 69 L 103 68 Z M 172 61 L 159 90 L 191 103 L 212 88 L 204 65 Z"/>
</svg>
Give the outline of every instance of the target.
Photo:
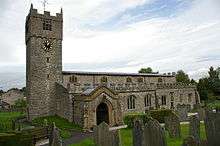
<svg viewBox="0 0 220 146">
<path fill-rule="evenodd" d="M 177 105 L 176 112 L 177 112 L 177 115 L 180 117 L 181 122 L 188 121 L 188 110 L 189 110 L 189 107 L 185 104 Z"/>
</svg>

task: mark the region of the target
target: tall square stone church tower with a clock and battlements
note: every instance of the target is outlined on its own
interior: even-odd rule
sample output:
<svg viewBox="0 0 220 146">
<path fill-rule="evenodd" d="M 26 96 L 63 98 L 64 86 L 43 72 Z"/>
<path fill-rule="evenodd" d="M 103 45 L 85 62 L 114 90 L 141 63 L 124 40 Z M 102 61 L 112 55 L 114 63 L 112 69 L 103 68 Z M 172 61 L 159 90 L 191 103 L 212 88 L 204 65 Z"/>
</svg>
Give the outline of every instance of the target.
<svg viewBox="0 0 220 146">
<path fill-rule="evenodd" d="M 56 83 L 62 82 L 63 14 L 26 17 L 26 87 L 29 120 L 56 113 Z"/>
</svg>

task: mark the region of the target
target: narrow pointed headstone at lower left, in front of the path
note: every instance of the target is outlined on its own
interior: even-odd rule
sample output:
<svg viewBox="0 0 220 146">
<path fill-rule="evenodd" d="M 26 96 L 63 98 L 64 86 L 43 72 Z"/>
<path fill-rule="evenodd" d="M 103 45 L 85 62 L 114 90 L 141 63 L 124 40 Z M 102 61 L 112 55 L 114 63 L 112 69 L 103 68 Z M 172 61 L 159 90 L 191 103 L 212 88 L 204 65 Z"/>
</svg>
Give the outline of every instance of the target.
<svg viewBox="0 0 220 146">
<path fill-rule="evenodd" d="M 62 146 L 59 129 L 53 123 L 52 132 L 49 138 L 49 146 Z"/>
</svg>

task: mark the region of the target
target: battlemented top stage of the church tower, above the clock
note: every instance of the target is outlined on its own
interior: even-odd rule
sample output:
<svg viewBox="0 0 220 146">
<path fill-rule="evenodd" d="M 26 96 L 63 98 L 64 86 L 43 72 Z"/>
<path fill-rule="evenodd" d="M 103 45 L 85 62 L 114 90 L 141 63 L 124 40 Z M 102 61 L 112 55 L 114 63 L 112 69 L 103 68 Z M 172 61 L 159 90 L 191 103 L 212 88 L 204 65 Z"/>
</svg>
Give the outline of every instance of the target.
<svg viewBox="0 0 220 146">
<path fill-rule="evenodd" d="M 30 12 L 26 17 L 25 26 L 26 44 L 30 37 L 63 39 L 63 12 L 56 13 L 52 16 L 50 12 L 44 11 L 43 14 L 38 13 L 37 9 L 31 5 Z"/>
</svg>

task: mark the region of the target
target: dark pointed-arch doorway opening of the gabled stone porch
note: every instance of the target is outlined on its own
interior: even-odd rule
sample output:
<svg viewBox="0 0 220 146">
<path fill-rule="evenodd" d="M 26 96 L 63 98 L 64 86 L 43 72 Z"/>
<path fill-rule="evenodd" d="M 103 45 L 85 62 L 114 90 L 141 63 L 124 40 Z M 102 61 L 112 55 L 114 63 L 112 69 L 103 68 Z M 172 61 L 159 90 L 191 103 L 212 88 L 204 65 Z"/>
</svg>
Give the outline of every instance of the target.
<svg viewBox="0 0 220 146">
<path fill-rule="evenodd" d="M 106 103 L 100 103 L 96 109 L 96 124 L 99 125 L 102 122 L 109 124 L 109 109 Z"/>
</svg>

